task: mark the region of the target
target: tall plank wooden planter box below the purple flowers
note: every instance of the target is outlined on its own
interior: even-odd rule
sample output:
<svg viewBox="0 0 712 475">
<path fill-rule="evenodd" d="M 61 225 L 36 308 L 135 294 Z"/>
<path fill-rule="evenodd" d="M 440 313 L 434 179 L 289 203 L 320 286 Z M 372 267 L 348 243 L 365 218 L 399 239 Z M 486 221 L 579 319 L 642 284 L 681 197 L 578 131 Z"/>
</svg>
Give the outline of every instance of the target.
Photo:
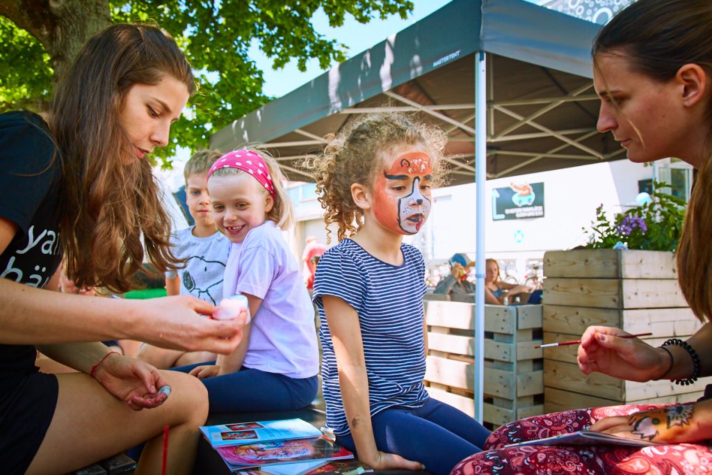
<svg viewBox="0 0 712 475">
<path fill-rule="evenodd" d="M 686 339 L 701 323 L 677 284 L 674 254 L 662 251 L 581 249 L 544 254 L 544 343 L 576 340 L 590 325 L 646 333 L 651 345 Z M 617 380 L 583 374 L 577 345 L 545 348 L 546 412 L 579 407 L 646 402 L 681 402 L 702 394 L 705 382 L 676 386 L 670 381 Z"/>
</svg>

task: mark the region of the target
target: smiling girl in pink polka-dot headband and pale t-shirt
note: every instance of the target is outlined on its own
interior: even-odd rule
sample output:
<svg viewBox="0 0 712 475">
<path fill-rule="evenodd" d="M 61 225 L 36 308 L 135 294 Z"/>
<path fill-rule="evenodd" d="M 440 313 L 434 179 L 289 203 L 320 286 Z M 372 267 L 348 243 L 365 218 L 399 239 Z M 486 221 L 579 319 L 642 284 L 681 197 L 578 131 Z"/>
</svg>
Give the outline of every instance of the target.
<svg viewBox="0 0 712 475">
<path fill-rule="evenodd" d="M 246 296 L 252 315 L 233 353 L 182 368 L 203 380 L 210 412 L 299 409 L 317 393 L 314 308 L 282 237 L 293 219 L 283 179 L 254 150 L 229 152 L 208 172 L 215 224 L 231 241 L 223 296 Z"/>
</svg>

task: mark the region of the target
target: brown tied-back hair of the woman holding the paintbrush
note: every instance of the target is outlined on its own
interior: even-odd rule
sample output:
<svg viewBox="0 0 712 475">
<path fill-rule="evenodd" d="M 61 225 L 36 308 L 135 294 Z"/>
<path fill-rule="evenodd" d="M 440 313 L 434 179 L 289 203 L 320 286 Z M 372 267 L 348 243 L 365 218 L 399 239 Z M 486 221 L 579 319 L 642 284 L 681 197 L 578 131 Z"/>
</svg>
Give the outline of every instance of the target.
<svg viewBox="0 0 712 475">
<path fill-rule="evenodd" d="M 594 41 L 601 53 L 624 56 L 634 71 L 666 82 L 679 68 L 695 63 L 712 88 L 712 1 L 639 0 L 614 16 Z M 712 139 L 712 94 L 707 104 L 708 144 Z M 633 124 L 634 126 L 634 124 Z M 662 157 L 661 157 L 662 158 Z M 699 170 L 677 249 L 678 279 L 695 315 L 712 317 L 712 165 Z"/>
</svg>

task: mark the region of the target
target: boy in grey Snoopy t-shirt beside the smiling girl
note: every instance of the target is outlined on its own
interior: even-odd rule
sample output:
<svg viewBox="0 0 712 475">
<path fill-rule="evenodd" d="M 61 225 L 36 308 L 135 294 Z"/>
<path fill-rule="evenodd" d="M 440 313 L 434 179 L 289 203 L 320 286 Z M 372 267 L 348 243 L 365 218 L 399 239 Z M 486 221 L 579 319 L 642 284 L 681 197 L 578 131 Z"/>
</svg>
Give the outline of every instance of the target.
<svg viewBox="0 0 712 475">
<path fill-rule="evenodd" d="M 201 150 L 185 164 L 186 202 L 195 225 L 171 236 L 173 252 L 179 259 L 185 259 L 185 264 L 177 272 L 166 273 L 169 296 L 188 294 L 214 305 L 222 300 L 222 281 L 230 245 L 215 227 L 207 187 L 208 171 L 220 157 L 220 152 L 215 150 Z M 209 352 L 186 353 L 152 345 L 143 345 L 138 357 L 159 369 L 215 359 Z"/>
</svg>

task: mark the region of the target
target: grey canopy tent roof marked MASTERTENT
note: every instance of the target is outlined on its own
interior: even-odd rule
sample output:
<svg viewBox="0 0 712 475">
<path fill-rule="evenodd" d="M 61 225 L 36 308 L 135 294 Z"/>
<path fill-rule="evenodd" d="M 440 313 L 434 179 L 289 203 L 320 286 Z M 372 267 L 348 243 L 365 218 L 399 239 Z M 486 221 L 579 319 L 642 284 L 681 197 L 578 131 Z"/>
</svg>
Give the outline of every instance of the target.
<svg viewBox="0 0 712 475">
<path fill-rule="evenodd" d="M 474 177 L 476 54 L 488 55 L 487 176 L 623 158 L 596 129 L 590 48 L 599 25 L 520 0 L 454 0 L 211 137 L 264 144 L 290 179 L 352 116 L 419 112 L 448 131 L 451 184 Z"/>
</svg>

